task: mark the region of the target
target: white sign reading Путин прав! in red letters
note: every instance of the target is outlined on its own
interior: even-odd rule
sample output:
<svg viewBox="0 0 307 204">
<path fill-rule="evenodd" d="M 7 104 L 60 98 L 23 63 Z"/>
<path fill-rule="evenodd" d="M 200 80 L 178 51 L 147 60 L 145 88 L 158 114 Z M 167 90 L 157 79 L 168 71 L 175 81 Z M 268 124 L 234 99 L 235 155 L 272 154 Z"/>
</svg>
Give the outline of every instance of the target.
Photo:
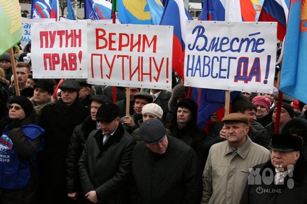
<svg viewBox="0 0 307 204">
<path fill-rule="evenodd" d="M 87 78 L 86 21 L 34 23 L 34 78 Z"/>
</svg>

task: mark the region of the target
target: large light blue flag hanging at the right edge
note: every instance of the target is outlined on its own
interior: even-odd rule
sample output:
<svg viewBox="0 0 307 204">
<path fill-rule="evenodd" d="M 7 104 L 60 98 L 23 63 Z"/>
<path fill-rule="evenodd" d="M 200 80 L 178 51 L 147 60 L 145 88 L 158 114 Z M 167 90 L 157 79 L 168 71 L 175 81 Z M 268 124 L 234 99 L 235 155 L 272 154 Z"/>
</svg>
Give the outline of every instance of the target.
<svg viewBox="0 0 307 204">
<path fill-rule="evenodd" d="M 307 2 L 293 0 L 290 4 L 282 74 L 279 89 L 307 103 Z"/>
</svg>

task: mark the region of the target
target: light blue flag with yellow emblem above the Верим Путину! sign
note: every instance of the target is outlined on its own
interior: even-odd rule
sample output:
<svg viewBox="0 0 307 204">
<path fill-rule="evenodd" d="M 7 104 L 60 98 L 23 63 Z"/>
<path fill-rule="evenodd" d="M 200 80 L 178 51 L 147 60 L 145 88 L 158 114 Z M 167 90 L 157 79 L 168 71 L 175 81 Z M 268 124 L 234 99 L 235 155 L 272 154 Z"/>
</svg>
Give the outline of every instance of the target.
<svg viewBox="0 0 307 204">
<path fill-rule="evenodd" d="M 159 25 L 164 7 L 160 0 L 117 0 L 117 9 L 122 23 Z"/>
</svg>

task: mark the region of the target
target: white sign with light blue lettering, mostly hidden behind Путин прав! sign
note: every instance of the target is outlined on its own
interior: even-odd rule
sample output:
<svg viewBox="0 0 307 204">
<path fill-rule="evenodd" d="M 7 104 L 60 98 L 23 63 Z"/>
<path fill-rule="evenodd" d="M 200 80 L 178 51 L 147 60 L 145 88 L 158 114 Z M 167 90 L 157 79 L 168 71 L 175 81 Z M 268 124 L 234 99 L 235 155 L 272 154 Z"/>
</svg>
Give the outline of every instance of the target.
<svg viewBox="0 0 307 204">
<path fill-rule="evenodd" d="M 55 18 L 24 18 L 21 17 L 21 28 L 22 28 L 22 37 L 21 37 L 21 46 L 25 47 L 31 40 L 31 25 L 32 23 L 41 23 L 41 22 L 53 22 L 56 21 Z"/>
</svg>

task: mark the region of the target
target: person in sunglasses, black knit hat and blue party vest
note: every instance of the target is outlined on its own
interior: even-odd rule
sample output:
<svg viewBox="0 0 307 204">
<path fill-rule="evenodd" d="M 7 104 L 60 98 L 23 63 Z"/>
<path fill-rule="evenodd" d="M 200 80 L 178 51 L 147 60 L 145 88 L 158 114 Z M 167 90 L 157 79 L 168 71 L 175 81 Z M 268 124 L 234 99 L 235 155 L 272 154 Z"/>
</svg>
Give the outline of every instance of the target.
<svg viewBox="0 0 307 204">
<path fill-rule="evenodd" d="M 32 113 L 29 99 L 14 96 L 9 115 L 0 120 L 0 203 L 36 203 L 36 154 L 44 130 L 34 125 Z"/>
</svg>

